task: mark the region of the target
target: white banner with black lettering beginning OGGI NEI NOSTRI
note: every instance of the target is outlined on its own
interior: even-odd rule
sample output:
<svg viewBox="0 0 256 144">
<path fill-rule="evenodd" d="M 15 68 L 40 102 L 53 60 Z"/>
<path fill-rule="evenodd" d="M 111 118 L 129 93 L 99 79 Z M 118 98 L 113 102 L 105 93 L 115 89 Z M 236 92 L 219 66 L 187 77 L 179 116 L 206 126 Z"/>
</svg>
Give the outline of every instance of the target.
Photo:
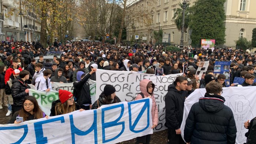
<svg viewBox="0 0 256 144">
<path fill-rule="evenodd" d="M 143 79 L 149 79 L 155 84 L 154 96 L 158 106 L 158 126 L 154 131 L 166 129 L 165 127 L 165 95 L 168 86 L 172 84 L 176 77 L 183 73 L 166 76 L 155 76 L 146 73 L 131 71 L 107 71 L 97 69 L 96 71 L 96 100 L 103 91 L 106 84 L 111 84 L 116 88 L 116 95 L 121 101 L 133 101 L 133 96 L 140 92 L 139 83 Z"/>
</svg>

